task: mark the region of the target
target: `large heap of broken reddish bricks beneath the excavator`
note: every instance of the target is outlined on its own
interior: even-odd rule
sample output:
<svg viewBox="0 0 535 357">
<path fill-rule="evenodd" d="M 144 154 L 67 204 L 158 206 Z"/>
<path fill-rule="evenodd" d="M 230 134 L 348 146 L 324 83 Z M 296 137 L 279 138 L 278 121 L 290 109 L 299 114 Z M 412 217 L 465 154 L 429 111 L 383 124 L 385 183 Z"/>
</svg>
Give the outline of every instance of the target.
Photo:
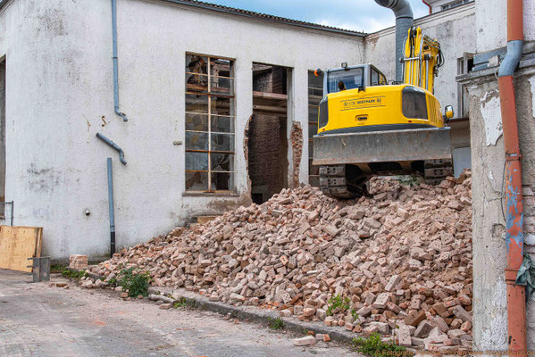
<svg viewBox="0 0 535 357">
<path fill-rule="evenodd" d="M 372 179 L 371 196 L 336 201 L 315 187 L 115 254 L 106 280 L 146 270 L 155 286 L 283 317 L 455 352 L 472 345 L 471 173 L 438 186 Z"/>
</svg>

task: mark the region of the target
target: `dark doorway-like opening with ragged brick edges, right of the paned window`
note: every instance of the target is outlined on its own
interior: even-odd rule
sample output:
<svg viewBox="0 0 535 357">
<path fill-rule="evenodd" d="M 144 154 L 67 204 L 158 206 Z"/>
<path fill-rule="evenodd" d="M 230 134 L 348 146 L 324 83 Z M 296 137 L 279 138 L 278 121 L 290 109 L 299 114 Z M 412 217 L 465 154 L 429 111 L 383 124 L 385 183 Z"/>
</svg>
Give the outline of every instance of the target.
<svg viewBox="0 0 535 357">
<path fill-rule="evenodd" d="M 258 204 L 288 187 L 288 71 L 253 63 L 253 118 L 247 163 L 251 199 Z"/>
</svg>

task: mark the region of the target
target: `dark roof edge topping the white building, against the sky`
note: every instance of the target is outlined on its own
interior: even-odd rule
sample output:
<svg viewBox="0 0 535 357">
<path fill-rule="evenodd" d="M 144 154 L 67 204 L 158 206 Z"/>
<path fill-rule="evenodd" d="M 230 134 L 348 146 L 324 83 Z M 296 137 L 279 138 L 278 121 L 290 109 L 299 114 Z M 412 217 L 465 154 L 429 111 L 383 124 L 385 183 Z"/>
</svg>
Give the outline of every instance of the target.
<svg viewBox="0 0 535 357">
<path fill-rule="evenodd" d="M 205 3 L 202 1 L 196 1 L 196 0 L 159 0 L 159 1 L 162 1 L 165 3 L 171 3 L 171 4 L 181 4 L 185 6 L 196 7 L 199 9 L 213 11 L 213 12 L 222 12 L 222 13 L 227 13 L 230 15 L 247 17 L 253 20 L 275 22 L 275 23 L 280 23 L 284 25 L 296 26 L 296 27 L 305 28 L 305 29 L 317 29 L 321 31 L 327 31 L 327 32 L 332 32 L 332 33 L 337 33 L 337 34 L 342 34 L 342 35 L 349 35 L 349 36 L 357 36 L 357 37 L 365 37 L 367 35 L 365 32 L 353 31 L 350 29 L 338 29 L 338 28 L 333 28 L 330 26 L 320 25 L 317 23 L 297 21 L 297 20 L 280 17 L 280 16 L 270 15 L 268 13 L 252 12 L 248 10 L 242 10 L 242 9 L 237 9 L 234 7 L 223 6 L 223 5 L 218 5 L 218 4 L 210 4 L 210 3 Z M 9 2 L 10 0 L 0 0 L 0 10 L 4 7 L 5 4 Z"/>
</svg>

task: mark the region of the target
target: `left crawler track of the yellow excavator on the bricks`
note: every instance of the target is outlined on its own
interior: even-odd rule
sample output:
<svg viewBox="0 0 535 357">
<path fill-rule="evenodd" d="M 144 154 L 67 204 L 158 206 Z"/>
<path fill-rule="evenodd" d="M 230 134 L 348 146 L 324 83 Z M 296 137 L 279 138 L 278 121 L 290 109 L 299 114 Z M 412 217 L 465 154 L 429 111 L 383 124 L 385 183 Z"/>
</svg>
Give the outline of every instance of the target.
<svg viewBox="0 0 535 357">
<path fill-rule="evenodd" d="M 320 166 L 320 189 L 332 198 L 351 199 L 365 195 L 367 177 L 353 165 Z"/>
</svg>

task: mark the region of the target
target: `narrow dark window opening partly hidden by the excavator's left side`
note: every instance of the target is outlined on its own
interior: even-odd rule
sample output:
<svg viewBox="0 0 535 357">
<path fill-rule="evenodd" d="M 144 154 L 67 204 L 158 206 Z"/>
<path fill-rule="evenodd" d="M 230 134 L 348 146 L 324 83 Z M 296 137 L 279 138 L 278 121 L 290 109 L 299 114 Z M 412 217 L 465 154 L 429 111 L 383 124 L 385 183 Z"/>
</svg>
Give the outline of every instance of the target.
<svg viewBox="0 0 535 357">
<path fill-rule="evenodd" d="M 320 171 L 312 165 L 313 136 L 318 133 L 318 110 L 323 97 L 323 75 L 308 72 L 308 183 L 320 187 Z"/>
</svg>

